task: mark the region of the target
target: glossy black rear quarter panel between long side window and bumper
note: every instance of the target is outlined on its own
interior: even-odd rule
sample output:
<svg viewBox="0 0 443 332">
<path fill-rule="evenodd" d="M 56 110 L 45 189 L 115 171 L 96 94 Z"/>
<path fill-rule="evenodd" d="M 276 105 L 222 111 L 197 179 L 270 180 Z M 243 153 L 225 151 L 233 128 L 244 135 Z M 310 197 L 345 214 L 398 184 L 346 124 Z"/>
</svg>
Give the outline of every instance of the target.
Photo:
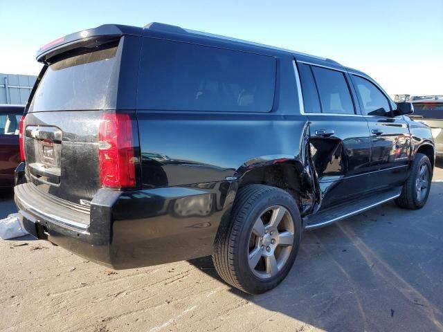
<svg viewBox="0 0 443 332">
<path fill-rule="evenodd" d="M 300 159 L 304 116 L 137 111 L 143 187 L 240 178 L 246 165 Z M 246 167 L 247 168 L 247 167 Z"/>
</svg>

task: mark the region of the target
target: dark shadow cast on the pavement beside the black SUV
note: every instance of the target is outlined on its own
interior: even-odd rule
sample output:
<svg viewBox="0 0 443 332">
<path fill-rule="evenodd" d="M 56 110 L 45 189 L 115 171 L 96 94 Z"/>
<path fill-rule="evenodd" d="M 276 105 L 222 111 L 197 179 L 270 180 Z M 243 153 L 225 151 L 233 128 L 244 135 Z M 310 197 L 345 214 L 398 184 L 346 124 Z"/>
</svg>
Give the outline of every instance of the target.
<svg viewBox="0 0 443 332">
<path fill-rule="evenodd" d="M 422 210 L 391 202 L 305 232 L 280 286 L 262 295 L 230 291 L 326 331 L 443 330 L 442 200 L 443 183 L 433 183 Z M 222 282 L 210 257 L 190 262 Z"/>
</svg>

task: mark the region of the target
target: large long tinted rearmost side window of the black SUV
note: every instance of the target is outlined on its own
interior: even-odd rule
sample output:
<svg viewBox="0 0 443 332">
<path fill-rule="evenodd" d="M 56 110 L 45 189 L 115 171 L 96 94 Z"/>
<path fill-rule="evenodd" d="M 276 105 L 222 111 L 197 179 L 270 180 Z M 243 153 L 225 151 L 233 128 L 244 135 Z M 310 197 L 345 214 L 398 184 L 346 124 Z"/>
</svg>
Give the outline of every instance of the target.
<svg viewBox="0 0 443 332">
<path fill-rule="evenodd" d="M 145 38 L 137 107 L 269 112 L 275 68 L 265 55 Z"/>
</svg>

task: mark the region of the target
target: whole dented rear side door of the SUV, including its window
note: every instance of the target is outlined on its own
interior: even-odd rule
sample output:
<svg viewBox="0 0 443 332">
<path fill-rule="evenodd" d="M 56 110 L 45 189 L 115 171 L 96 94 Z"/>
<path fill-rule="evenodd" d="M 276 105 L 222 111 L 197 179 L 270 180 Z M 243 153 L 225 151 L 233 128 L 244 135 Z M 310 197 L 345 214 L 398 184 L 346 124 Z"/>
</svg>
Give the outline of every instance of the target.
<svg viewBox="0 0 443 332">
<path fill-rule="evenodd" d="M 356 113 L 345 71 L 298 62 L 309 118 L 310 152 L 320 183 L 322 208 L 368 190 L 368 122 Z"/>
</svg>

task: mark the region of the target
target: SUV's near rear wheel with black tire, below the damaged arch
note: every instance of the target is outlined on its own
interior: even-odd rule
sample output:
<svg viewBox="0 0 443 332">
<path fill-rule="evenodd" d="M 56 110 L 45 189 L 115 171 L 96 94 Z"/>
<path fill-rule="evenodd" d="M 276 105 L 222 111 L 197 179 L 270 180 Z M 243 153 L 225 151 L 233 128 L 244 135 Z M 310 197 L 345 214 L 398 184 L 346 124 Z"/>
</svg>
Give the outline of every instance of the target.
<svg viewBox="0 0 443 332">
<path fill-rule="evenodd" d="M 274 210 L 269 210 L 271 208 Z M 282 209 L 280 210 L 280 208 Z M 267 212 L 266 209 L 268 209 Z M 280 220 L 284 220 L 281 223 L 288 227 L 293 227 L 291 228 L 293 230 L 293 239 L 287 235 L 291 236 L 291 232 L 280 232 L 280 230 L 277 230 L 277 227 L 280 226 L 275 226 L 276 231 L 272 232 L 271 228 L 269 228 L 272 222 L 265 223 L 265 221 L 262 221 L 264 228 L 269 231 L 266 231 L 264 237 L 257 237 L 256 247 L 253 244 L 253 250 L 258 251 L 260 248 L 262 250 L 259 259 L 264 259 L 264 261 L 259 261 L 258 265 L 263 263 L 265 266 L 264 273 L 267 273 L 266 259 L 268 257 L 262 256 L 262 254 L 266 255 L 264 250 L 267 250 L 267 255 L 269 255 L 269 246 L 273 246 L 271 254 L 274 255 L 274 261 L 280 264 L 280 266 L 274 265 L 274 268 L 269 268 L 271 270 L 269 277 L 257 277 L 256 274 L 260 273 L 260 271 L 250 268 L 251 252 L 249 250 L 251 250 L 251 237 L 254 236 L 254 230 L 259 218 L 262 220 L 263 216 L 269 215 L 270 220 L 272 220 L 274 212 L 280 214 L 281 211 L 284 214 L 284 216 L 280 217 Z M 278 216 L 275 216 L 275 219 L 278 219 Z M 280 221 L 277 221 L 275 224 L 279 225 L 279 223 Z M 275 239 L 269 239 L 272 234 L 274 237 L 278 237 L 277 244 L 275 244 Z M 237 192 L 233 210 L 230 214 L 230 224 L 226 233 L 219 235 L 217 239 L 216 251 L 215 255 L 213 255 L 215 269 L 225 282 L 235 288 L 239 288 L 241 291 L 251 294 L 269 291 L 280 284 L 289 273 L 289 270 L 291 270 L 300 246 L 301 234 L 302 222 L 300 212 L 290 194 L 279 188 L 267 185 L 246 185 Z M 286 243 L 283 243 L 283 237 Z M 264 241 L 268 241 L 266 247 L 263 246 Z M 273 241 L 271 242 L 272 245 L 269 241 Z M 289 242 L 292 244 L 288 244 Z M 278 247 L 280 248 L 280 253 L 278 252 Z M 284 257 L 282 257 L 282 252 L 284 252 Z M 278 257 L 278 253 L 280 257 Z M 278 262 L 280 258 L 284 258 L 284 260 Z M 272 265 L 269 264 L 269 266 Z M 276 271 L 275 268 L 278 268 L 277 273 L 273 273 L 273 271 Z"/>
</svg>

